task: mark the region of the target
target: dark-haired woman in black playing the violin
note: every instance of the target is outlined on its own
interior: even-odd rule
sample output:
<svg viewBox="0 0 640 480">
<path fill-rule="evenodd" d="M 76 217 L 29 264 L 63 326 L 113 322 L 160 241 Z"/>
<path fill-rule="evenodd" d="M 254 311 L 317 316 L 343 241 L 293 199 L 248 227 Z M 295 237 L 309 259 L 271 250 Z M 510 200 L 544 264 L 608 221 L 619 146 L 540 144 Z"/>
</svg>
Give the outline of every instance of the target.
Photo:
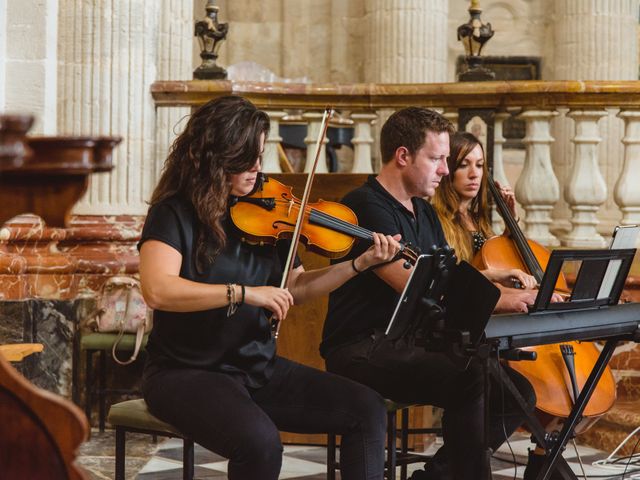
<svg viewBox="0 0 640 480">
<path fill-rule="evenodd" d="M 294 303 L 391 260 L 398 238 L 374 234 L 355 265 L 305 271 L 296 260 L 288 288 L 275 286 L 287 245 L 244 243 L 229 218 L 254 190 L 268 132 L 264 112 L 224 97 L 198 109 L 173 144 L 139 243 L 154 309 L 144 398 L 158 418 L 228 458 L 230 479 L 278 478 L 278 430 L 340 434 L 343 478 L 382 479 L 382 398 L 277 356 L 268 317 L 283 320 Z"/>
</svg>

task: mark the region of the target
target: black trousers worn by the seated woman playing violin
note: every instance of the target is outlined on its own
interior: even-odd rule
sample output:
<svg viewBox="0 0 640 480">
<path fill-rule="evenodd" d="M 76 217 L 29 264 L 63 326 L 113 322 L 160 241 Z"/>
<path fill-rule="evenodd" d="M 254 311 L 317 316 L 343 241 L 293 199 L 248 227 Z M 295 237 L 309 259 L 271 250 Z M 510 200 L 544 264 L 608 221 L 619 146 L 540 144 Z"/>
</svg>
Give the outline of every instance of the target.
<svg viewBox="0 0 640 480">
<path fill-rule="evenodd" d="M 143 392 L 151 413 L 229 459 L 229 479 L 277 479 L 279 430 L 342 435 L 342 478 L 383 478 L 384 401 L 347 378 L 277 357 L 259 389 L 224 373 L 150 367 Z"/>
</svg>

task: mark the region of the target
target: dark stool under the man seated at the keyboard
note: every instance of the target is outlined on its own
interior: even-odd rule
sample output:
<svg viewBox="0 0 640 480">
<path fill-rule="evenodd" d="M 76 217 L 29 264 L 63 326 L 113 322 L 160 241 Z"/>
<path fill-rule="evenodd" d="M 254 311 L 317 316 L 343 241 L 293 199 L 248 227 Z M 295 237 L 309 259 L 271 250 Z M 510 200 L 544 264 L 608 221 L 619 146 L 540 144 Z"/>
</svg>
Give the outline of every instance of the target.
<svg viewBox="0 0 640 480">
<path fill-rule="evenodd" d="M 387 459 L 385 461 L 385 477 L 395 480 L 396 467 L 401 467 L 400 479 L 407 479 L 407 465 L 424 462 L 429 457 L 409 452 L 409 435 L 422 433 L 441 434 L 440 428 L 409 428 L 410 404 L 396 403 L 392 400 L 384 401 L 387 407 Z M 400 449 L 396 448 L 398 428 L 396 412 L 400 410 Z M 327 480 L 335 480 L 336 470 L 340 462 L 336 461 L 336 435 L 330 433 L 327 437 Z"/>
</svg>

